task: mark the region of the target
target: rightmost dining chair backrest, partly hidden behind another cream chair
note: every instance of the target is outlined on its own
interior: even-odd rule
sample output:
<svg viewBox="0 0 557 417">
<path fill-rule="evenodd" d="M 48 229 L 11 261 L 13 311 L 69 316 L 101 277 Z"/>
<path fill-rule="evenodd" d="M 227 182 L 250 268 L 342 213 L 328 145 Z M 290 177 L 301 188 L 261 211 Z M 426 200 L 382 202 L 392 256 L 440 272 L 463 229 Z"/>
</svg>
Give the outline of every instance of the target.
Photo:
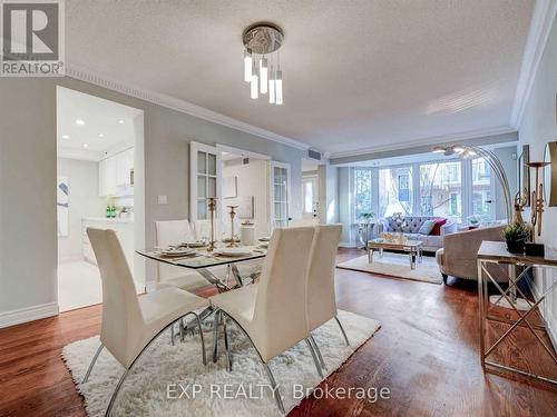
<svg viewBox="0 0 557 417">
<path fill-rule="evenodd" d="M 315 227 L 307 271 L 307 324 L 313 330 L 336 316 L 334 269 L 342 225 Z"/>
</svg>

